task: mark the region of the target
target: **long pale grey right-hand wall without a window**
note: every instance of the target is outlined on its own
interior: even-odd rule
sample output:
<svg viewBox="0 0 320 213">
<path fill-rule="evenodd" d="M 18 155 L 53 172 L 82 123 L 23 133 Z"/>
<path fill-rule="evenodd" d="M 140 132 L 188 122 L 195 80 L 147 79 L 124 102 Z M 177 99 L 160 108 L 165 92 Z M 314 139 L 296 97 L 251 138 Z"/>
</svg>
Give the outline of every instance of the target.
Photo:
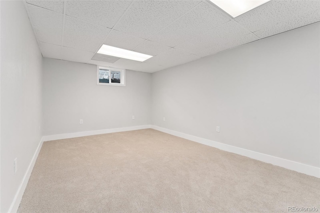
<svg viewBox="0 0 320 213">
<path fill-rule="evenodd" d="M 315 23 L 152 73 L 151 123 L 320 167 L 319 42 Z"/>
</svg>

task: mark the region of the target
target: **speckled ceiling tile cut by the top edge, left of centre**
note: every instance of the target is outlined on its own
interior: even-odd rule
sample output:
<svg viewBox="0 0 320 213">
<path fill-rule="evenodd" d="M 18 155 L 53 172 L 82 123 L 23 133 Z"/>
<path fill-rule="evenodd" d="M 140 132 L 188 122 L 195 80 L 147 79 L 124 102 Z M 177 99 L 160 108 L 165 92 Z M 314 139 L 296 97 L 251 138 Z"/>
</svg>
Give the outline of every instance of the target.
<svg viewBox="0 0 320 213">
<path fill-rule="evenodd" d="M 130 0 L 68 0 L 66 15 L 112 28 L 130 3 Z"/>
</svg>

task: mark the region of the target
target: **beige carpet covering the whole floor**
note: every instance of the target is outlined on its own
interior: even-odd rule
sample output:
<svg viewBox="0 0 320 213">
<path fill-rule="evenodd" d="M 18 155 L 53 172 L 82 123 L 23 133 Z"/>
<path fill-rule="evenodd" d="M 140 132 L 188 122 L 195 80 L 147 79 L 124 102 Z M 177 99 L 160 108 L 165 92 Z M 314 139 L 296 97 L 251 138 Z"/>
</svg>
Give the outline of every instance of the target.
<svg viewBox="0 0 320 213">
<path fill-rule="evenodd" d="M 288 212 L 320 179 L 153 129 L 44 142 L 18 212 Z"/>
</svg>

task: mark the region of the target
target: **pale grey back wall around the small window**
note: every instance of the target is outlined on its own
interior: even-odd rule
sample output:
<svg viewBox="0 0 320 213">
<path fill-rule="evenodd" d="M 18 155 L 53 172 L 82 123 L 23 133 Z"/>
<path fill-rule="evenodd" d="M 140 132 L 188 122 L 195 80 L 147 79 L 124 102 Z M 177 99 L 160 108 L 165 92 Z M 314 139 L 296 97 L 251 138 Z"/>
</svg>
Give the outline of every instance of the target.
<svg viewBox="0 0 320 213">
<path fill-rule="evenodd" d="M 43 58 L 43 135 L 150 124 L 150 83 L 126 70 L 126 86 L 97 85 L 96 65 Z"/>
</svg>

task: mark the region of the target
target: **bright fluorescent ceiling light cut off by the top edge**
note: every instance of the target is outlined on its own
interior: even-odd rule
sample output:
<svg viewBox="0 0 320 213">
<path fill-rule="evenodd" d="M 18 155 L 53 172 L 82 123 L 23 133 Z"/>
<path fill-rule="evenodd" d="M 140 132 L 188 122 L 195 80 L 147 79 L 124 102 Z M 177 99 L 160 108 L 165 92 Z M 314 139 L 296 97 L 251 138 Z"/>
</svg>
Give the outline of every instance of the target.
<svg viewBox="0 0 320 213">
<path fill-rule="evenodd" d="M 210 0 L 215 5 L 229 13 L 232 17 L 236 17 L 247 12 L 269 0 Z"/>
</svg>

